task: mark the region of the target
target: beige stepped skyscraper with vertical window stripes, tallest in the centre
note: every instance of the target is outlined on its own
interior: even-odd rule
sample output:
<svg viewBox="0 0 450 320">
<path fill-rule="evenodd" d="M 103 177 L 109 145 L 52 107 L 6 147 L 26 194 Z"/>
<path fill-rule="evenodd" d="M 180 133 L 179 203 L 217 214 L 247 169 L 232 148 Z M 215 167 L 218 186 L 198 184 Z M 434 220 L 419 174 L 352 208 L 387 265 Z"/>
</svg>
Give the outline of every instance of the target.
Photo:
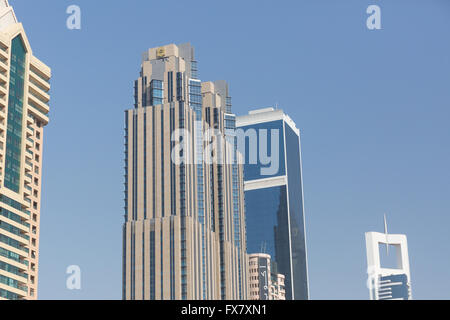
<svg viewBox="0 0 450 320">
<path fill-rule="evenodd" d="M 246 299 L 242 166 L 224 81 L 201 82 L 194 49 L 143 54 L 125 112 L 123 298 Z M 209 148 L 208 146 L 212 146 Z M 212 156 L 214 161 L 209 161 Z"/>
</svg>

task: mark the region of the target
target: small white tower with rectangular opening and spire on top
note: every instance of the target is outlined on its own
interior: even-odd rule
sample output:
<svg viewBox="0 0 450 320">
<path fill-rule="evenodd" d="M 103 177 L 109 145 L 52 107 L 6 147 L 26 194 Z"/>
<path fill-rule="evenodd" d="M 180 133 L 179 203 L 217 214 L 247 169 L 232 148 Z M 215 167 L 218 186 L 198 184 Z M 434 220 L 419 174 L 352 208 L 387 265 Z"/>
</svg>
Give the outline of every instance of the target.
<svg viewBox="0 0 450 320">
<path fill-rule="evenodd" d="M 381 253 L 386 249 L 387 261 Z M 368 287 L 371 300 L 411 300 L 411 273 L 409 269 L 408 241 L 403 234 L 366 233 Z M 393 265 L 385 264 L 388 256 L 395 256 Z"/>
</svg>

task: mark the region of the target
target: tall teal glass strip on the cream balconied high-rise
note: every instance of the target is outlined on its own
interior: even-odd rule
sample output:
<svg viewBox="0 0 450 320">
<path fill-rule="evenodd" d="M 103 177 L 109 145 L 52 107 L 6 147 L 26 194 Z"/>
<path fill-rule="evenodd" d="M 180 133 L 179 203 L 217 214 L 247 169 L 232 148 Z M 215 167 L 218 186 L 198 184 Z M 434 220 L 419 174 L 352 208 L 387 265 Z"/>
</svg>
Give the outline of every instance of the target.
<svg viewBox="0 0 450 320">
<path fill-rule="evenodd" d="M 5 187 L 17 193 L 20 190 L 25 61 L 26 50 L 22 37 L 19 35 L 12 40 L 11 44 L 8 128 L 5 157 Z"/>
</svg>

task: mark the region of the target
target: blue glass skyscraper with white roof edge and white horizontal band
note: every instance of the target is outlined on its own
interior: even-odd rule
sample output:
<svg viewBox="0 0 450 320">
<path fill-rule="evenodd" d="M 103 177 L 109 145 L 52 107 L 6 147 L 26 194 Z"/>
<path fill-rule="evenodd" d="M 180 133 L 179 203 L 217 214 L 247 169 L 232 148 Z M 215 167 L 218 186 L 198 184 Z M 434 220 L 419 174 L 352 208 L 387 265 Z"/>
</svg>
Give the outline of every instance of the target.
<svg viewBox="0 0 450 320">
<path fill-rule="evenodd" d="M 245 158 L 247 251 L 272 257 L 278 273 L 286 277 L 287 300 L 306 300 L 300 132 L 291 118 L 273 108 L 237 117 L 236 124 L 241 129 L 238 146 Z"/>
</svg>

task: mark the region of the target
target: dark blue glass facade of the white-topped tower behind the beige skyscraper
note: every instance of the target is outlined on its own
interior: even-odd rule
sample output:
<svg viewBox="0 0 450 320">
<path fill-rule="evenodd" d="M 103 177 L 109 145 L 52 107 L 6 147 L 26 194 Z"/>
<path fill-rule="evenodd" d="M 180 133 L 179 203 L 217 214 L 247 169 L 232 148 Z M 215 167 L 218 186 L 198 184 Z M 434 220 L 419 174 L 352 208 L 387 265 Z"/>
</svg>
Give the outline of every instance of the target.
<svg viewBox="0 0 450 320">
<path fill-rule="evenodd" d="M 261 168 L 267 167 L 267 162 L 263 163 L 261 159 L 258 159 L 257 164 L 249 162 L 251 160 L 249 152 L 252 147 L 255 148 L 250 142 L 255 137 L 248 130 L 252 128 L 256 131 L 258 158 L 261 154 L 261 145 L 264 143 L 267 143 L 267 155 L 272 161 L 277 160 L 273 155 L 274 152 L 278 152 L 278 170 L 273 175 L 261 174 Z M 269 183 L 268 186 L 245 191 L 248 253 L 270 254 L 278 273 L 286 277 L 286 299 L 307 300 L 308 275 L 300 137 L 283 120 L 259 123 L 241 129 L 246 134 L 245 181 L 286 177 L 286 183 L 282 185 L 270 187 Z M 261 129 L 267 129 L 267 135 Z M 278 137 L 272 136 L 273 130 L 279 132 Z M 263 132 L 262 139 L 260 139 L 261 132 Z M 274 137 L 277 139 L 274 140 Z M 279 148 L 272 147 L 277 140 Z"/>
</svg>

